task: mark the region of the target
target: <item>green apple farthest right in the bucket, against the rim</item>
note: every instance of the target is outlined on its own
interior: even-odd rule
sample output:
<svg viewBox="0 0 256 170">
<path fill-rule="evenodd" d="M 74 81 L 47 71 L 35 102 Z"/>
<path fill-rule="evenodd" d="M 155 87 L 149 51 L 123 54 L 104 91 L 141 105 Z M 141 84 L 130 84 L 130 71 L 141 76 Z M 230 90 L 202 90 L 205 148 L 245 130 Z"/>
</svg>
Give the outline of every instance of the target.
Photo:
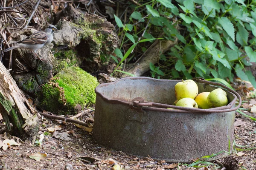
<svg viewBox="0 0 256 170">
<path fill-rule="evenodd" d="M 207 96 L 207 103 L 211 108 L 217 108 L 228 104 L 227 94 L 221 88 L 217 88 Z"/>
</svg>

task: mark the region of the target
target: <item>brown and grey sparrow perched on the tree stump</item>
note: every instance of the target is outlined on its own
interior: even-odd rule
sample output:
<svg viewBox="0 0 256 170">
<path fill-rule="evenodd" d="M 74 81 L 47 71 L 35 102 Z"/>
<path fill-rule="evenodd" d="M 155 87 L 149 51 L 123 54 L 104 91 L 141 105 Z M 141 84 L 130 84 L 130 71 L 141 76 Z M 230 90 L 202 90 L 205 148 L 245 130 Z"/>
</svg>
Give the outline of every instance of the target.
<svg viewBox="0 0 256 170">
<path fill-rule="evenodd" d="M 26 39 L 17 42 L 17 45 L 7 48 L 6 50 L 4 50 L 4 52 L 13 50 L 15 48 L 25 48 L 34 52 L 38 59 L 43 61 L 45 59 L 42 59 L 38 54 L 36 54 L 36 51 L 52 42 L 52 33 L 55 30 L 58 30 L 55 26 L 53 26 L 52 24 L 47 24 L 44 26 L 44 28 L 41 29 L 41 31 L 31 34 Z"/>
</svg>

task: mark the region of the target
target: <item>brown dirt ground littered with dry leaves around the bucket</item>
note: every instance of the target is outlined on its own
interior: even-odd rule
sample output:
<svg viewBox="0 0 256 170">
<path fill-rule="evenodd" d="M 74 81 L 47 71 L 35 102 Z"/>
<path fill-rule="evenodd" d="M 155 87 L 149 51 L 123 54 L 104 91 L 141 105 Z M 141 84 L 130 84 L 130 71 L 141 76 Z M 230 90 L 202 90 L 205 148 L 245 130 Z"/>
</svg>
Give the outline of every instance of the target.
<svg viewBox="0 0 256 170">
<path fill-rule="evenodd" d="M 244 96 L 243 100 L 245 104 L 242 106 L 244 108 L 251 108 L 252 105 L 250 105 L 250 102 L 253 102 L 254 99 L 248 99 Z M 250 113 L 246 110 L 243 112 L 249 116 L 256 117 L 255 113 Z M 93 117 L 94 112 L 91 112 L 79 119 L 93 124 Z M 256 169 L 256 123 L 252 119 L 242 116 L 238 112 L 236 112 L 235 122 L 234 134 L 236 151 L 234 150 L 232 155 L 238 159 L 240 165 L 239 169 L 254 170 Z M 0 125 L 0 129 L 5 127 L 3 121 Z M 59 129 L 56 130 L 59 133 L 69 133 L 70 136 L 58 139 L 56 136 L 54 137 L 54 133 L 48 132 L 49 127 Z M 25 141 L 21 142 L 20 146 L 8 148 L 7 150 L 1 148 L 0 170 L 64 170 L 65 168 L 66 170 L 72 168 L 79 170 L 104 170 L 111 168 L 115 169 L 116 167 L 117 169 L 115 170 L 118 170 L 118 165 L 120 165 L 121 169 L 135 170 L 192 170 L 200 168 L 200 170 L 221 170 L 221 166 L 216 161 L 210 161 L 212 163 L 211 165 L 197 164 L 195 167 L 188 167 L 189 164 L 174 164 L 165 161 L 157 162 L 150 157 L 145 159 L 137 158 L 136 156 L 131 156 L 121 151 L 100 147 L 93 141 L 92 133 L 81 130 L 69 122 L 50 120 L 41 117 L 40 130 L 38 133 L 38 139 L 40 139 L 41 134 L 44 134 L 41 147 L 38 146 L 38 144 L 31 145 L 29 142 Z M 36 161 L 29 157 L 34 153 L 42 153 L 41 155 L 46 157 Z M 223 160 L 224 159 L 220 159 L 218 161 L 223 163 Z M 113 163 L 118 165 L 113 167 L 113 165 L 115 165 Z"/>
</svg>

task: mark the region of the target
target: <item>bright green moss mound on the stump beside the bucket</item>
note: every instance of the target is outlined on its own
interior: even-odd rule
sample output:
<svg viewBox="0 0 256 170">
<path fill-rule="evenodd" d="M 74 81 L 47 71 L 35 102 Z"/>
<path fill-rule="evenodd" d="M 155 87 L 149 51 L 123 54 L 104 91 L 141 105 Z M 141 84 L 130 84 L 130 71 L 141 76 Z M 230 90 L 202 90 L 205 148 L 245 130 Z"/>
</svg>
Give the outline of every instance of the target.
<svg viewBox="0 0 256 170">
<path fill-rule="evenodd" d="M 59 79 L 56 79 L 59 77 Z M 43 101 L 41 106 L 53 113 L 74 113 L 75 107 L 81 105 L 84 108 L 88 103 L 95 103 L 94 89 L 99 83 L 97 79 L 79 67 L 64 68 L 55 75 L 55 82 L 64 89 L 66 105 L 61 100 L 59 88 L 53 85 L 44 85 L 42 89 Z"/>
</svg>

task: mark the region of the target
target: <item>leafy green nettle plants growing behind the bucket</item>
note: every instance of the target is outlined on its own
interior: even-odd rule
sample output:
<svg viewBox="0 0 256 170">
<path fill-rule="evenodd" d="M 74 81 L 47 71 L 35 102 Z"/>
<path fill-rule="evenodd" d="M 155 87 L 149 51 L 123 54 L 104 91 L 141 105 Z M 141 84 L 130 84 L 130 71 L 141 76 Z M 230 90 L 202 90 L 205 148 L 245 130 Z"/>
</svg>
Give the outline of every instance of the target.
<svg viewBox="0 0 256 170">
<path fill-rule="evenodd" d="M 167 40 L 177 37 L 179 40 L 167 54 L 159 54 L 158 66 L 150 66 L 154 77 L 214 77 L 232 82 L 236 74 L 256 87 L 252 73 L 244 68 L 250 62 L 256 62 L 256 1 L 137 2 L 137 6 L 130 6 L 133 13 L 125 25 L 115 16 L 119 35 L 125 35 L 119 49 L 124 43 L 138 43 L 141 34 L 151 41 L 154 37 Z M 161 34 L 163 36 L 158 37 Z M 145 51 L 145 47 L 137 48 Z M 124 61 L 123 51 L 119 49 L 116 49 L 116 55 Z"/>
</svg>

